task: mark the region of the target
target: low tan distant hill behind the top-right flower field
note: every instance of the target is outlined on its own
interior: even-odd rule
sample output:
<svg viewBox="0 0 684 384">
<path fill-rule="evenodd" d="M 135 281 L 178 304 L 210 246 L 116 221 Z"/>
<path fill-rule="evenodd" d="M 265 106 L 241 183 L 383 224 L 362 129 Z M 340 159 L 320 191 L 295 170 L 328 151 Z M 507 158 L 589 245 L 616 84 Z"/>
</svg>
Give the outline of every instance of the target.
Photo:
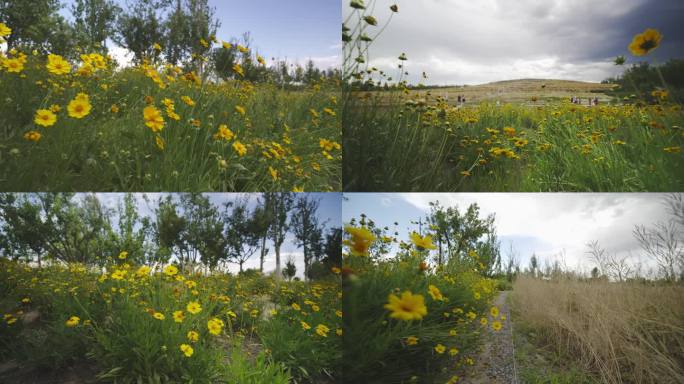
<svg viewBox="0 0 684 384">
<path fill-rule="evenodd" d="M 582 98 L 584 103 L 587 103 L 586 100 L 590 97 L 598 97 L 600 102 L 606 102 L 610 100 L 610 97 L 605 92 L 610 91 L 614 86 L 573 80 L 518 79 L 480 85 L 425 88 L 414 90 L 412 93 L 421 95 L 430 92 L 433 96 L 448 98 L 450 103 L 456 103 L 460 95 L 464 96 L 468 103 L 500 101 L 534 105 L 569 99 L 571 96 Z"/>
</svg>

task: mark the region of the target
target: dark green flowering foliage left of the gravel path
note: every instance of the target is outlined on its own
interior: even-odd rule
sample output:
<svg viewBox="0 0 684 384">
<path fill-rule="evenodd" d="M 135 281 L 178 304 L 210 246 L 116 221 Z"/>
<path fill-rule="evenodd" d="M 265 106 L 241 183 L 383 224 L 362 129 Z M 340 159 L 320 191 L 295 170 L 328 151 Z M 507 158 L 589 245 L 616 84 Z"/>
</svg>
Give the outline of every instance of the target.
<svg viewBox="0 0 684 384">
<path fill-rule="evenodd" d="M 442 269 L 421 272 L 421 257 L 408 254 L 369 264 L 370 259 L 353 257 L 345 267 L 357 275 L 344 286 L 344 359 L 345 382 L 402 382 L 412 376 L 431 382 L 441 375 L 441 368 L 476 354 L 479 337 L 477 317 L 487 317 L 487 302 L 493 284 L 472 272 Z M 446 300 L 434 300 L 428 293 L 436 286 Z M 425 297 L 428 314 L 420 321 L 392 319 L 384 305 L 388 295 L 410 291 Z M 479 298 L 476 298 L 475 292 Z M 455 336 L 450 336 L 454 330 Z M 409 345 L 409 337 L 418 338 Z M 435 347 L 446 347 L 444 354 Z M 448 352 L 459 352 L 451 356 Z"/>
</svg>

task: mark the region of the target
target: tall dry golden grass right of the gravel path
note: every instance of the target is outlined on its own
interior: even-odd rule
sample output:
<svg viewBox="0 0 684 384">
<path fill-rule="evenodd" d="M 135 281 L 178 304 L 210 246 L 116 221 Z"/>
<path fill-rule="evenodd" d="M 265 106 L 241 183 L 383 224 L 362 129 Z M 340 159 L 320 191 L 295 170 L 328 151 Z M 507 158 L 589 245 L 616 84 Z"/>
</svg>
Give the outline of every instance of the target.
<svg viewBox="0 0 684 384">
<path fill-rule="evenodd" d="M 605 383 L 684 383 L 684 287 L 521 277 L 513 308 Z"/>
</svg>

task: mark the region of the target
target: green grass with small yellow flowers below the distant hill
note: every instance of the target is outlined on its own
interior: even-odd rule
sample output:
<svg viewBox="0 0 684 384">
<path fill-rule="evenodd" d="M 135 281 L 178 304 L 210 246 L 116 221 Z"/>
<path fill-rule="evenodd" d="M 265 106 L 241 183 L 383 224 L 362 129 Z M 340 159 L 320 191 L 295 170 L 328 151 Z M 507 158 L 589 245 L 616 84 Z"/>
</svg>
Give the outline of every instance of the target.
<svg viewBox="0 0 684 384">
<path fill-rule="evenodd" d="M 343 119 L 345 189 L 676 191 L 683 120 L 677 105 L 459 108 L 370 94 Z"/>
</svg>

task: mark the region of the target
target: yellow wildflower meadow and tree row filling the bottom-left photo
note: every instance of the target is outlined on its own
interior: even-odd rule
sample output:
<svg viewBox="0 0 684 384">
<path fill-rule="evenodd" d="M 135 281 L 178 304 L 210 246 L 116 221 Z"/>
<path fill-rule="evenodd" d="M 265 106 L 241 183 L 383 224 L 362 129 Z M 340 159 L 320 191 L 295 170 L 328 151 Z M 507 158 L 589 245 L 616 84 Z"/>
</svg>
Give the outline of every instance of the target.
<svg viewBox="0 0 684 384">
<path fill-rule="evenodd" d="M 217 215 L 206 197 L 178 206 L 172 195 L 159 202 L 154 229 L 137 215 L 131 195 L 120 200 L 126 208 L 110 212 L 120 227 L 80 216 L 95 214 L 99 200 L 79 196 L 2 197 L 3 382 L 284 384 L 339 377 L 339 228 L 322 232 L 320 223 L 302 219 L 289 195 L 265 196 L 255 208 L 235 201 L 231 219 Z M 42 234 L 27 237 L 31 229 L 20 217 L 50 202 Z M 264 211 L 281 209 L 276 205 L 289 207 L 284 218 Z M 264 217 L 270 219 L 258 235 L 255 221 Z M 281 269 L 280 247 L 291 240 L 272 242 L 268 232 L 279 239 L 301 226 L 309 228 L 300 236 L 306 271 L 291 258 Z M 264 256 L 272 260 L 264 248 L 261 267 L 243 269 L 267 242 L 276 269 L 272 261 L 264 265 Z"/>
</svg>

